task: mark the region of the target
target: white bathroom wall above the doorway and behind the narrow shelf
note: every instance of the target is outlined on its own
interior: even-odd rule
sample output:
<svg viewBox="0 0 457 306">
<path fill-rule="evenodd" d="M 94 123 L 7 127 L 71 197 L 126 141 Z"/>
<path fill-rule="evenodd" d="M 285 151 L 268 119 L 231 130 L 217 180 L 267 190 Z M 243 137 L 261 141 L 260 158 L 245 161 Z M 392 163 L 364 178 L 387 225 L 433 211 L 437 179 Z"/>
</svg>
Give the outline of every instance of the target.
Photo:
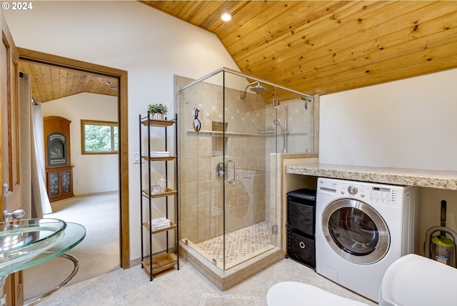
<svg viewBox="0 0 457 306">
<path fill-rule="evenodd" d="M 137 1 L 34 1 L 4 11 L 16 46 L 129 72 L 131 259 L 140 257 L 138 114 L 149 103 L 174 109 L 173 75 L 199 79 L 226 66 L 239 70 L 219 39 Z"/>
</svg>

